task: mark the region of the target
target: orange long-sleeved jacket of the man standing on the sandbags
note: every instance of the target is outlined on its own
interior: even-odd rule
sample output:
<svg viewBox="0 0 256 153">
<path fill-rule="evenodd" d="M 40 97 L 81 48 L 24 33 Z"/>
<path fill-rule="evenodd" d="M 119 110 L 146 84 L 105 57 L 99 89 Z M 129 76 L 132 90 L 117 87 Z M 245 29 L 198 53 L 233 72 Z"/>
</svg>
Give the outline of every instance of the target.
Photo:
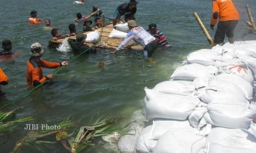
<svg viewBox="0 0 256 153">
<path fill-rule="evenodd" d="M 231 0 L 212 0 L 211 25 L 215 25 L 218 17 L 220 21 L 239 20 L 239 13 Z"/>
</svg>

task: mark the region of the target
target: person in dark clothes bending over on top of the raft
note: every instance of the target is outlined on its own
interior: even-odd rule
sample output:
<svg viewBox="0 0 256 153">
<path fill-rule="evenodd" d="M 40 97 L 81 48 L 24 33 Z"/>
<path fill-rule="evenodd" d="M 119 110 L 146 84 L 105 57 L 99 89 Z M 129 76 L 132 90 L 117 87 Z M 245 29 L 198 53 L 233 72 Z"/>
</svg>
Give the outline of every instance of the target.
<svg viewBox="0 0 256 153">
<path fill-rule="evenodd" d="M 130 0 L 130 3 L 123 3 L 119 5 L 113 16 L 113 26 L 120 20 L 121 16 L 124 15 L 124 20 L 135 20 L 134 14 L 137 11 L 136 0 Z"/>
</svg>

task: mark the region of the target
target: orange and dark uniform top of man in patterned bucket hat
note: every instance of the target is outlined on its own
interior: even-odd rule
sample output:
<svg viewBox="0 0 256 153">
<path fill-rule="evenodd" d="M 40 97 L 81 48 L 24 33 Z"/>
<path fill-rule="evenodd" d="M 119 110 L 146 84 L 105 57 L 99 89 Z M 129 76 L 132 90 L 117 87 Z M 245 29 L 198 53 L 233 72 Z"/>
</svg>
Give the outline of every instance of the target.
<svg viewBox="0 0 256 153">
<path fill-rule="evenodd" d="M 45 60 L 41 60 L 36 62 L 33 58 L 30 58 L 27 62 L 27 84 L 29 87 L 35 87 L 43 82 L 45 82 L 48 78 L 42 75 L 41 67 L 45 68 L 59 68 L 61 63 L 55 62 L 47 62 Z"/>
</svg>

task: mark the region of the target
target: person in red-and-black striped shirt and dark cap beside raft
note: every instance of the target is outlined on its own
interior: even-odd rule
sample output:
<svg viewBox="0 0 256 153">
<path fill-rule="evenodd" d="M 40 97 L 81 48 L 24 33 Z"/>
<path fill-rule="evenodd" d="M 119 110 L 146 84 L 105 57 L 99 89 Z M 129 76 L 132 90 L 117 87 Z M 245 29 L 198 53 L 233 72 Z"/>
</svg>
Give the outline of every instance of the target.
<svg viewBox="0 0 256 153">
<path fill-rule="evenodd" d="M 157 24 L 149 24 L 147 31 L 154 35 L 159 46 L 170 47 L 170 44 L 166 40 L 166 36 L 163 35 L 163 33 L 160 30 L 157 29 Z"/>
</svg>

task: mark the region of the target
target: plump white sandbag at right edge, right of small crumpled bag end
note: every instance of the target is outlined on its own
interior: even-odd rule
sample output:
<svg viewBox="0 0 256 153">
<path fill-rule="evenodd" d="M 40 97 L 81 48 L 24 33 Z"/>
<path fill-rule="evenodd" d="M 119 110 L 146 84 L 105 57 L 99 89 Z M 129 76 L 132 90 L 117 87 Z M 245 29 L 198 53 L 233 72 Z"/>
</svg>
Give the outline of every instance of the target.
<svg viewBox="0 0 256 153">
<path fill-rule="evenodd" d="M 248 129 L 256 115 L 256 106 L 227 99 L 211 101 L 204 114 L 205 120 L 215 126 Z"/>
</svg>

